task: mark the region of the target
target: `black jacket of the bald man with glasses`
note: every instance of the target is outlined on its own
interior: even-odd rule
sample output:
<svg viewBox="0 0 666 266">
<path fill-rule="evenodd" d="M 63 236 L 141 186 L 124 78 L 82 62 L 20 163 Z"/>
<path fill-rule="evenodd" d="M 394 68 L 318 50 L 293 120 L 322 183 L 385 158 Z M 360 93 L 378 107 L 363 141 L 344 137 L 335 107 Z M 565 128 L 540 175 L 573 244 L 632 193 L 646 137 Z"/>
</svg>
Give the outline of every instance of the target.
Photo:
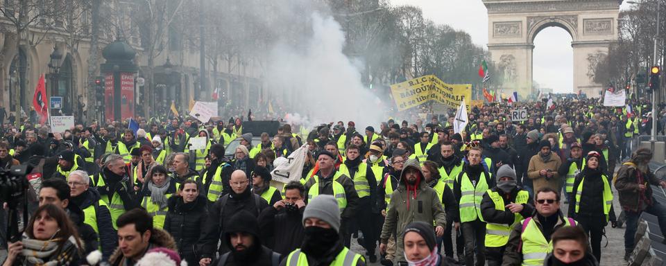
<svg viewBox="0 0 666 266">
<path fill-rule="evenodd" d="M 198 250 L 201 252 L 199 258 L 214 258 L 215 248 L 219 241 L 222 245 L 219 247 L 220 254 L 229 251 L 223 232 L 228 225 L 230 218 L 241 210 L 246 210 L 259 217 L 259 213 L 268 207 L 266 200 L 259 195 L 255 195 L 247 188 L 243 193 L 236 194 L 233 191 L 217 200 L 208 209 L 208 218 L 206 226 L 198 240 Z"/>
</svg>

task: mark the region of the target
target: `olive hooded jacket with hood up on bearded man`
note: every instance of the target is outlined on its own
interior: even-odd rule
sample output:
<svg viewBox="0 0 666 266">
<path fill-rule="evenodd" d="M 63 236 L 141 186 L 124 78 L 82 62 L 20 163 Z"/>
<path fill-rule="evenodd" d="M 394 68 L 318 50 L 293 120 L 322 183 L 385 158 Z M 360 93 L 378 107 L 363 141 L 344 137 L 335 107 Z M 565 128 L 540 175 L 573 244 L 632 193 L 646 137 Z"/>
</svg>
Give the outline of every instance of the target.
<svg viewBox="0 0 666 266">
<path fill-rule="evenodd" d="M 418 170 L 418 179 L 414 186 L 407 184 L 405 174 L 408 168 Z M 430 188 L 423 179 L 423 173 L 416 159 L 409 159 L 400 172 L 400 183 L 398 188 L 391 194 L 391 202 L 388 204 L 386 219 L 380 240 L 388 243 L 391 233 L 402 232 L 404 227 L 411 222 L 426 222 L 438 227 L 446 227 L 446 215 L 440 199 L 434 189 Z M 433 227 L 434 229 L 434 227 Z M 396 243 L 402 243 L 402 236 L 398 236 Z M 395 260 L 404 260 L 402 245 L 396 245 Z"/>
</svg>

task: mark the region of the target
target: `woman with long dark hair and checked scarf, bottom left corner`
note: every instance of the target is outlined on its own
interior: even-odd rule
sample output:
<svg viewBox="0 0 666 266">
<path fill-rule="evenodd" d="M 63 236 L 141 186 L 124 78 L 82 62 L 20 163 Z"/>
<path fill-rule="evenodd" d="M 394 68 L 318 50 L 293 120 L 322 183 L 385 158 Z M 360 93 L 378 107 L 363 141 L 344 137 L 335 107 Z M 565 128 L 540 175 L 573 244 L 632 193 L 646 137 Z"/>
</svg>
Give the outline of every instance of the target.
<svg viewBox="0 0 666 266">
<path fill-rule="evenodd" d="M 83 246 L 67 213 L 53 204 L 37 208 L 19 242 L 11 243 L 3 266 L 80 265 Z"/>
</svg>

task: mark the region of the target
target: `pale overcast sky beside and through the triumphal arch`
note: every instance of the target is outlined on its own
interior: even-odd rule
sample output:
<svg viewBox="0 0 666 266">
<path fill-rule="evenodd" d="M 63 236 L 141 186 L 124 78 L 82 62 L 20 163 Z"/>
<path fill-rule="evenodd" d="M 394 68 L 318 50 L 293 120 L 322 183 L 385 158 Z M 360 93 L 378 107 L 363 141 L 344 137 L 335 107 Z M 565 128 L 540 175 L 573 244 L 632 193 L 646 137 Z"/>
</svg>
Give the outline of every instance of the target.
<svg viewBox="0 0 666 266">
<path fill-rule="evenodd" d="M 393 6 L 409 4 L 423 10 L 425 18 L 447 24 L 472 35 L 472 41 L 487 49 L 488 14 L 481 0 L 390 0 Z M 629 4 L 624 3 L 622 8 Z M 534 80 L 554 92 L 573 90 L 571 36 L 562 28 L 542 30 L 534 39 Z"/>
</svg>

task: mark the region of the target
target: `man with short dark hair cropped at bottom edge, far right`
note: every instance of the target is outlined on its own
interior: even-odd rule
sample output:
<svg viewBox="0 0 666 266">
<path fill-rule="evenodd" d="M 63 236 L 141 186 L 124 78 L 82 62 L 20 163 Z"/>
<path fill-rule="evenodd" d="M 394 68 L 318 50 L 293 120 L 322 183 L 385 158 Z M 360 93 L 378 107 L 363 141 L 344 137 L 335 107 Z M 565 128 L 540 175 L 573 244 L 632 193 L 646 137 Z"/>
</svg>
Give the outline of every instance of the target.
<svg viewBox="0 0 666 266">
<path fill-rule="evenodd" d="M 581 227 L 561 227 L 550 239 L 553 242 L 553 252 L 548 254 L 543 265 L 599 265 L 595 257 L 590 254 L 588 237 Z"/>
</svg>

